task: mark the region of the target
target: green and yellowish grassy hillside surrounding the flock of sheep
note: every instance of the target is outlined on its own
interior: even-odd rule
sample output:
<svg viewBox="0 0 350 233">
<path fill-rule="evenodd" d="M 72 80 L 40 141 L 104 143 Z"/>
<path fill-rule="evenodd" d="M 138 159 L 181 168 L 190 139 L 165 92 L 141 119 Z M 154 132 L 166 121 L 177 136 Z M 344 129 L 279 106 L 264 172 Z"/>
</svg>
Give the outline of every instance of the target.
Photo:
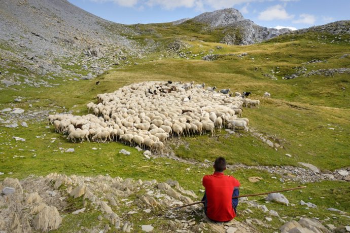
<svg viewBox="0 0 350 233">
<path fill-rule="evenodd" d="M 134 27 L 142 25 L 134 25 Z M 167 25 L 153 25 L 154 31 L 140 35 L 135 40 L 150 37 L 167 41 L 174 32 L 168 30 Z M 203 40 L 197 27 L 179 26 L 179 37 L 196 37 Z M 141 28 L 144 30 L 144 28 Z M 176 32 L 176 31 L 175 31 Z M 155 37 L 160 33 L 162 38 Z M 202 37 L 201 37 L 202 36 Z M 326 38 L 325 38 L 326 36 Z M 173 142 L 176 156 L 191 161 L 203 162 L 205 159 L 213 161 L 218 156 L 224 156 L 229 164 L 241 163 L 244 165 L 266 166 L 300 166 L 298 162 L 310 163 L 322 171 L 334 171 L 350 166 L 350 79 L 348 73 L 336 73 L 332 76 L 305 74 L 311 70 L 350 68 L 350 56 L 340 58 L 350 51 L 349 36 L 342 36 L 342 41 L 334 43 L 334 35 L 320 35 L 308 33 L 305 35 L 286 35 L 275 38 L 262 44 L 251 46 L 226 46 L 211 43 L 211 38 L 205 37 L 208 42 L 198 40 L 185 41 L 190 47 L 184 52 L 199 54 L 185 58 L 158 59 L 165 51 L 156 51 L 147 60 L 137 60 L 138 65 L 126 65 L 123 68 L 110 70 L 99 76 L 100 85 L 95 80 L 66 81 L 59 78 L 55 82 L 61 85 L 52 88 L 34 88 L 27 86 L 2 87 L 0 95 L 0 109 L 6 107 L 20 107 L 26 112 L 48 111 L 50 113 L 72 111 L 74 114 L 87 114 L 86 104 L 96 102 L 99 93 L 113 92 L 118 88 L 131 83 L 144 81 L 182 81 L 205 83 L 206 86 L 216 86 L 218 89 L 230 88 L 231 91 L 252 91 L 252 99 L 260 99 L 260 108 L 244 108 L 243 117 L 250 119 L 248 133 L 238 132 L 228 135 L 225 131 L 217 131 L 217 137 L 207 135 L 184 138 L 180 143 Z M 344 40 L 347 40 L 345 42 Z M 216 41 L 216 40 L 213 40 Z M 332 43 L 331 43 L 332 42 Z M 217 46 L 222 48 L 218 49 Z M 212 51 L 219 54 L 215 61 L 203 61 L 201 57 Z M 248 53 L 246 56 L 237 56 Z M 0 55 L 1 56 L 1 55 Z M 320 60 L 320 62 L 311 62 Z M 136 60 L 135 60 L 136 61 Z M 133 64 L 133 62 L 130 62 Z M 72 67 L 74 69 L 76 67 Z M 283 77 L 296 73 L 298 77 L 284 80 Z M 274 76 L 276 80 L 268 76 Z M 263 98 L 264 92 L 271 93 L 271 98 Z M 21 96 L 21 102 L 13 100 Z M 31 104 L 32 107 L 29 107 Z M 8 115 L 1 113 L 0 118 L 6 120 Z M 24 178 L 29 174 L 46 175 L 51 172 L 93 176 L 109 174 L 112 177 L 135 178 L 143 180 L 157 179 L 165 181 L 176 179 L 185 189 L 192 189 L 198 196 L 202 193 L 201 178 L 203 174 L 212 172 L 210 166 L 197 167 L 191 163 L 177 162 L 168 158 L 146 160 L 142 152 L 121 143 L 70 143 L 65 136 L 54 132 L 54 128 L 47 128 L 47 122 L 40 119 L 25 120 L 29 127 L 6 128 L 0 127 L 0 180 L 6 177 Z M 20 124 L 22 119 L 18 118 Z M 279 143 L 283 148 L 274 149 L 254 136 L 254 132 L 264 135 L 272 142 Z M 12 137 L 25 138 L 25 142 L 15 141 Z M 56 139 L 53 139 L 56 138 Z M 96 150 L 92 150 L 96 147 Z M 67 148 L 74 148 L 74 153 L 62 152 Z M 124 148 L 131 151 L 130 156 L 119 154 Z M 291 154 L 291 158 L 285 154 Z M 22 158 L 21 158 L 22 157 Z M 188 170 L 189 169 L 189 170 Z M 241 183 L 241 194 L 268 191 L 273 189 L 297 186 L 300 183 L 288 180 L 288 174 L 283 177 L 270 174 L 259 169 L 228 170 Z M 248 178 L 260 176 L 263 181 L 251 183 Z M 275 176 L 277 179 L 271 178 Z M 279 178 L 285 178 L 282 183 Z M 303 192 L 288 192 L 286 197 L 295 208 L 268 203 L 270 209 L 278 208 L 279 215 L 285 220 L 298 219 L 298 216 L 330 217 L 330 224 L 345 225 L 346 217 L 335 213 L 325 212 L 326 208 L 337 208 L 350 212 L 347 197 L 350 193 L 349 182 L 322 181 L 306 183 Z M 318 209 L 305 210 L 299 206 L 300 200 L 312 203 Z M 262 198 L 256 198 L 258 203 L 265 205 Z M 277 205 L 277 206 L 276 206 Z M 241 206 L 240 210 L 247 208 Z M 86 213 L 88 217 L 89 213 Z M 91 213 L 91 215 L 94 215 Z M 85 215 L 81 215 L 84 218 Z M 94 216 L 95 217 L 95 216 Z M 135 218 L 143 216 L 136 215 Z M 199 217 L 199 216 L 197 216 Z M 243 221 L 249 215 L 239 213 L 237 219 Z M 264 214 L 255 210 L 250 217 L 264 220 Z M 143 219 L 144 221 L 145 219 Z M 58 232 L 76 231 L 77 222 L 89 225 L 83 219 L 67 213 L 62 228 Z M 162 221 L 155 223 L 162 224 Z M 282 222 L 269 222 L 277 228 Z M 267 229 L 258 226 L 263 232 L 273 232 L 276 229 Z"/>
</svg>

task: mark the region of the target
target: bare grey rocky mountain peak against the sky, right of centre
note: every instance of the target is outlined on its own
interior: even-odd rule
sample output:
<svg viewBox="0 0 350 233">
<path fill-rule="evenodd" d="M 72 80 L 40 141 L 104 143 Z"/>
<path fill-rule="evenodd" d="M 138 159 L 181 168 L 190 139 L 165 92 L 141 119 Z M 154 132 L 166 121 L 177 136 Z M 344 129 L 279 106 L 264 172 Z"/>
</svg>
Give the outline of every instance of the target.
<svg viewBox="0 0 350 233">
<path fill-rule="evenodd" d="M 205 12 L 194 17 L 193 20 L 209 24 L 212 27 L 217 27 L 243 21 L 244 17 L 238 10 L 227 8 L 213 12 Z"/>
</svg>

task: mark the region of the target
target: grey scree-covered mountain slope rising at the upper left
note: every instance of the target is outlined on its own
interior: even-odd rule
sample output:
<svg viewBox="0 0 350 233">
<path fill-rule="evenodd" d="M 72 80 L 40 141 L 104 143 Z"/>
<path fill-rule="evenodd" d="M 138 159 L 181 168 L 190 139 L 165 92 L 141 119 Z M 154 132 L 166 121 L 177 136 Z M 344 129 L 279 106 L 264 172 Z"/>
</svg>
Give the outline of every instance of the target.
<svg viewBox="0 0 350 233">
<path fill-rule="evenodd" d="M 89 74 L 85 78 L 90 78 L 108 70 L 124 52 L 138 52 L 138 46 L 121 35 L 132 34 L 129 28 L 103 20 L 66 0 L 6 1 L 0 8 L 0 30 L 0 69 L 3 79 L 9 77 L 3 82 L 7 85 L 30 82 L 21 79 L 20 73 L 11 75 L 14 66 L 22 69 L 23 76 L 60 73 L 67 77 Z M 67 67 L 75 65 L 84 71 L 77 74 Z M 42 84 L 48 86 L 47 81 Z"/>
</svg>

